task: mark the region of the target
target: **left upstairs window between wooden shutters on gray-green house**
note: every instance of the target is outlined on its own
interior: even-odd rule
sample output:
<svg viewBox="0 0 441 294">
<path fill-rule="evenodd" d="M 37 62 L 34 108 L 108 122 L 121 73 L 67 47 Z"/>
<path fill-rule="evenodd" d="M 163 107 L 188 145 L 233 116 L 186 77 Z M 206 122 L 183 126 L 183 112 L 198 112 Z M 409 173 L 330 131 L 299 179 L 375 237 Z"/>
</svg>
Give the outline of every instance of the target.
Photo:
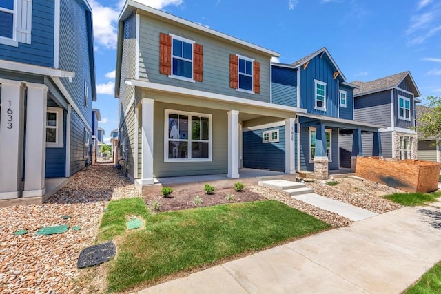
<svg viewBox="0 0 441 294">
<path fill-rule="evenodd" d="M 172 76 L 193 78 L 194 41 L 172 36 Z"/>
</svg>

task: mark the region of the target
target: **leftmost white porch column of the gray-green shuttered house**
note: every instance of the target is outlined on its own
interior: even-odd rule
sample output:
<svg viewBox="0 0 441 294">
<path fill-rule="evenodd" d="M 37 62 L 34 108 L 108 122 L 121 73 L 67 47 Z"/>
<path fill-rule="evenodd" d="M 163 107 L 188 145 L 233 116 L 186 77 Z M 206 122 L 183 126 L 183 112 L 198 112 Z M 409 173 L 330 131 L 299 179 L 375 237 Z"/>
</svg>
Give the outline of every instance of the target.
<svg viewBox="0 0 441 294">
<path fill-rule="evenodd" d="M 153 107 L 154 100 L 143 98 L 142 101 L 142 156 L 141 156 L 141 185 L 153 184 Z M 135 167 L 136 169 L 136 167 Z"/>
</svg>

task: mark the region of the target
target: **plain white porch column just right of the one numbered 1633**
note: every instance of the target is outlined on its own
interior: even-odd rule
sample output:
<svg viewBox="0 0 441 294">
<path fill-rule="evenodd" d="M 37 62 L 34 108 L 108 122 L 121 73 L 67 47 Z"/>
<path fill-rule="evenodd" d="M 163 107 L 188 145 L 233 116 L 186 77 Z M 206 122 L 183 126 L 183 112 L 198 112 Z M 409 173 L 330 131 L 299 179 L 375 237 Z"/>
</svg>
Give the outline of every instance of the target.
<svg viewBox="0 0 441 294">
<path fill-rule="evenodd" d="M 38 197 L 46 193 L 46 105 L 48 87 L 26 83 L 28 99 L 26 113 L 25 189 L 23 197 Z M 63 118 L 59 118 L 63 123 Z"/>
</svg>

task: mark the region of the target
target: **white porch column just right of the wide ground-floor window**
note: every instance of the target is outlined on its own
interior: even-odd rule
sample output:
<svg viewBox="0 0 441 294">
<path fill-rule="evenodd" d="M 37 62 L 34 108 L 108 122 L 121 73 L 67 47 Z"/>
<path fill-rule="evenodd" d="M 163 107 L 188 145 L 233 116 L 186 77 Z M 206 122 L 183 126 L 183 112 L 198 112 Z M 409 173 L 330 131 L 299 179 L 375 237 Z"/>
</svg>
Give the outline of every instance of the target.
<svg viewBox="0 0 441 294">
<path fill-rule="evenodd" d="M 239 112 L 228 112 L 228 178 L 239 178 Z"/>
</svg>

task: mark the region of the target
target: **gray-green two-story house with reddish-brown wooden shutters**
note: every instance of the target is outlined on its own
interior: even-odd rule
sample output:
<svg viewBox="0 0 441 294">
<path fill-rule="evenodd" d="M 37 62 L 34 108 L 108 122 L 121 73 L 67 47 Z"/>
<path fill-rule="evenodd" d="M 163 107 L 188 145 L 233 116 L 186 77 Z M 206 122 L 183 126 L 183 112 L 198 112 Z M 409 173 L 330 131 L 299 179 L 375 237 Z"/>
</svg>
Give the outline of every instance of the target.
<svg viewBox="0 0 441 294">
<path fill-rule="evenodd" d="M 243 167 L 243 128 L 282 122 L 271 103 L 277 52 L 127 1 L 119 19 L 115 96 L 119 146 L 140 191 L 155 178 L 227 174 Z M 294 139 L 285 149 L 293 150 Z M 285 171 L 295 172 L 294 157 Z"/>
</svg>

